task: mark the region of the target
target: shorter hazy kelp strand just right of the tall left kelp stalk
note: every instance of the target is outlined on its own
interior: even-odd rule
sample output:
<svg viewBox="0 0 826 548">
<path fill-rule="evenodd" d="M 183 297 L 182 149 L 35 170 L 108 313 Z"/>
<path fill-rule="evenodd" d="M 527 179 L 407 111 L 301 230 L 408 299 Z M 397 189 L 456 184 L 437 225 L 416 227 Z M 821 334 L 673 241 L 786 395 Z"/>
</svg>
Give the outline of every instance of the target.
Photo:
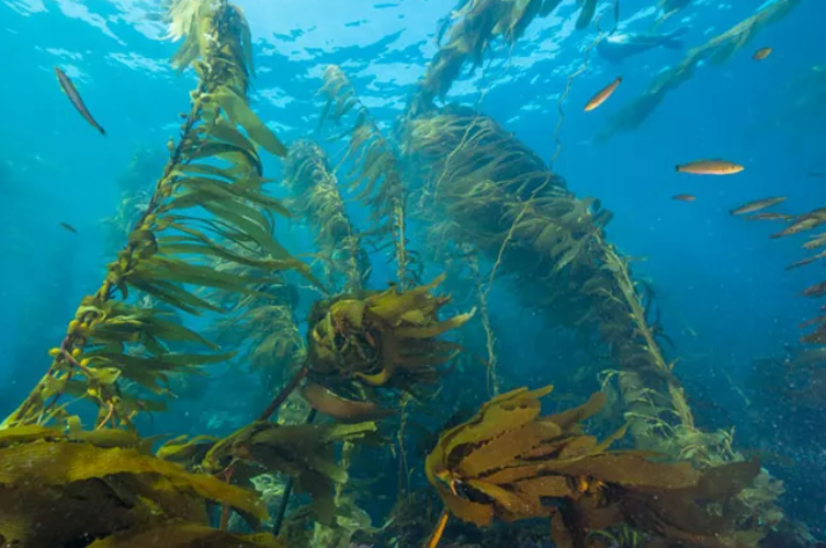
<svg viewBox="0 0 826 548">
<path fill-rule="evenodd" d="M 284 185 L 291 192 L 291 210 L 304 217 L 315 231 L 328 284 L 343 277 L 343 284 L 338 284 L 342 292 L 364 288 L 370 260 L 344 210 L 338 180 L 321 147 L 310 140 L 292 145 L 284 162 Z"/>
</svg>

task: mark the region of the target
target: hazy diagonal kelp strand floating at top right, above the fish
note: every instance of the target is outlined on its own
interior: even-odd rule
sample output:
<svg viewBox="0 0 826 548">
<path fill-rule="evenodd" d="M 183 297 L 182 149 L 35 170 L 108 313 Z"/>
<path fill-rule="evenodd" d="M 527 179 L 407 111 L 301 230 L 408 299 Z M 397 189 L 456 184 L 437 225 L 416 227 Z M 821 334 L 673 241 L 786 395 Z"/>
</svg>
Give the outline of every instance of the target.
<svg viewBox="0 0 826 548">
<path fill-rule="evenodd" d="M 722 65 L 748 44 L 762 27 L 788 15 L 800 4 L 800 0 L 776 0 L 766 3 L 757 13 L 740 21 L 726 32 L 714 36 L 705 44 L 686 54 L 686 57 L 663 71 L 635 100 L 612 116 L 600 139 L 608 139 L 620 130 L 632 130 L 648 117 L 671 90 L 691 79 L 694 69 L 702 62 Z"/>
</svg>

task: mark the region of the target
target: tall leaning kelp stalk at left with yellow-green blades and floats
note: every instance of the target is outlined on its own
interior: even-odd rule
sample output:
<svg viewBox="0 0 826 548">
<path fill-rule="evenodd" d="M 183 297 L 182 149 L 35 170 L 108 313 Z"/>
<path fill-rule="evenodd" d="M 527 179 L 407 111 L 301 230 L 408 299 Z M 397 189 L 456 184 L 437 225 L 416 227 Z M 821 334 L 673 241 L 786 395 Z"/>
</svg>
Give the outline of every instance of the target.
<svg viewBox="0 0 826 548">
<path fill-rule="evenodd" d="M 216 349 L 194 331 L 132 304 L 134 292 L 197 315 L 222 311 L 199 295 L 197 287 L 250 293 L 256 284 L 278 282 L 279 272 L 288 269 L 312 278 L 307 266 L 272 236 L 273 215 L 286 212 L 262 191 L 259 147 L 281 156 L 285 150 L 247 103 L 249 66 L 239 55 L 246 22 L 224 0 L 200 5 L 192 22 L 201 44 L 202 58 L 192 60 L 199 85 L 180 139 L 170 144 L 163 174 L 127 244 L 108 265 L 98 292 L 83 298 L 64 341 L 50 351 L 48 373 L 3 427 L 67 418 L 56 406 L 65 391 L 99 407 L 98 427 L 131 425 L 149 403 L 127 402 L 118 379 L 163 392 L 166 372 L 228 357 L 171 353 L 171 341 Z M 262 252 L 242 255 L 225 242 Z M 214 258 L 253 266 L 261 274 L 216 271 Z M 117 296 L 121 302 L 113 300 Z"/>
</svg>

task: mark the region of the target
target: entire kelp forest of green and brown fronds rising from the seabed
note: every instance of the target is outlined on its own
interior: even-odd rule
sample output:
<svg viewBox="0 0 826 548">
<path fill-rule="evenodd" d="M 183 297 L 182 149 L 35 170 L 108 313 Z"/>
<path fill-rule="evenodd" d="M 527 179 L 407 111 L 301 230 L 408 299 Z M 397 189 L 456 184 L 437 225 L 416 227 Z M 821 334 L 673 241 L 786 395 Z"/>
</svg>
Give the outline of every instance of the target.
<svg viewBox="0 0 826 548">
<path fill-rule="evenodd" d="M 613 214 L 554 171 L 564 116 L 543 159 L 476 106 L 443 101 L 559 3 L 461 2 L 393 124 L 328 66 L 317 122 L 286 142 L 250 101 L 242 10 L 172 1 L 171 64 L 196 85 L 176 137 L 137 150 L 116 181 L 98 288 L 27 364 L 39 379 L 2 419 L 0 546 L 810 546 L 782 482 L 733 427 L 695 419 L 656 294 L 611 240 Z M 574 24 L 601 39 L 620 2 L 598 3 L 580 1 Z M 601 138 L 799 3 L 769 3 L 688 52 Z M 810 104 L 824 75 L 805 75 Z M 779 221 L 772 238 L 811 235 L 812 255 L 790 269 L 826 258 L 826 207 L 756 215 Z M 312 253 L 283 244 L 293 224 L 309 227 Z M 557 389 L 517 381 L 489 306 L 502 292 L 577 356 L 548 358 L 542 378 Z M 796 387 L 777 401 L 816 409 L 823 310 L 803 328 L 806 350 L 762 370 Z M 171 401 L 226 370 L 248 379 L 246 425 L 165 430 Z M 591 396 L 562 393 L 572 387 Z"/>
</svg>

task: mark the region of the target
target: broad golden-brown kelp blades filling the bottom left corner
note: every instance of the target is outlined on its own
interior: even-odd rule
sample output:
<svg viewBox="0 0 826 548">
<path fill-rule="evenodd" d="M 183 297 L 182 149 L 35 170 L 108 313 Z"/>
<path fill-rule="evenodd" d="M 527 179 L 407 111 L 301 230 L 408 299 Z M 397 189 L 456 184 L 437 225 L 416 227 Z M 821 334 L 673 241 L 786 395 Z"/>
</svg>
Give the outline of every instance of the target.
<svg viewBox="0 0 826 548">
<path fill-rule="evenodd" d="M 0 537 L 15 546 L 135 546 L 151 538 L 163 538 L 165 546 L 280 546 L 269 535 L 236 536 L 204 525 L 210 502 L 253 522 L 267 518 L 254 493 L 186 472 L 147 449 L 124 431 L 3 430 Z M 60 527 L 43 526 L 58 521 Z"/>
</svg>

